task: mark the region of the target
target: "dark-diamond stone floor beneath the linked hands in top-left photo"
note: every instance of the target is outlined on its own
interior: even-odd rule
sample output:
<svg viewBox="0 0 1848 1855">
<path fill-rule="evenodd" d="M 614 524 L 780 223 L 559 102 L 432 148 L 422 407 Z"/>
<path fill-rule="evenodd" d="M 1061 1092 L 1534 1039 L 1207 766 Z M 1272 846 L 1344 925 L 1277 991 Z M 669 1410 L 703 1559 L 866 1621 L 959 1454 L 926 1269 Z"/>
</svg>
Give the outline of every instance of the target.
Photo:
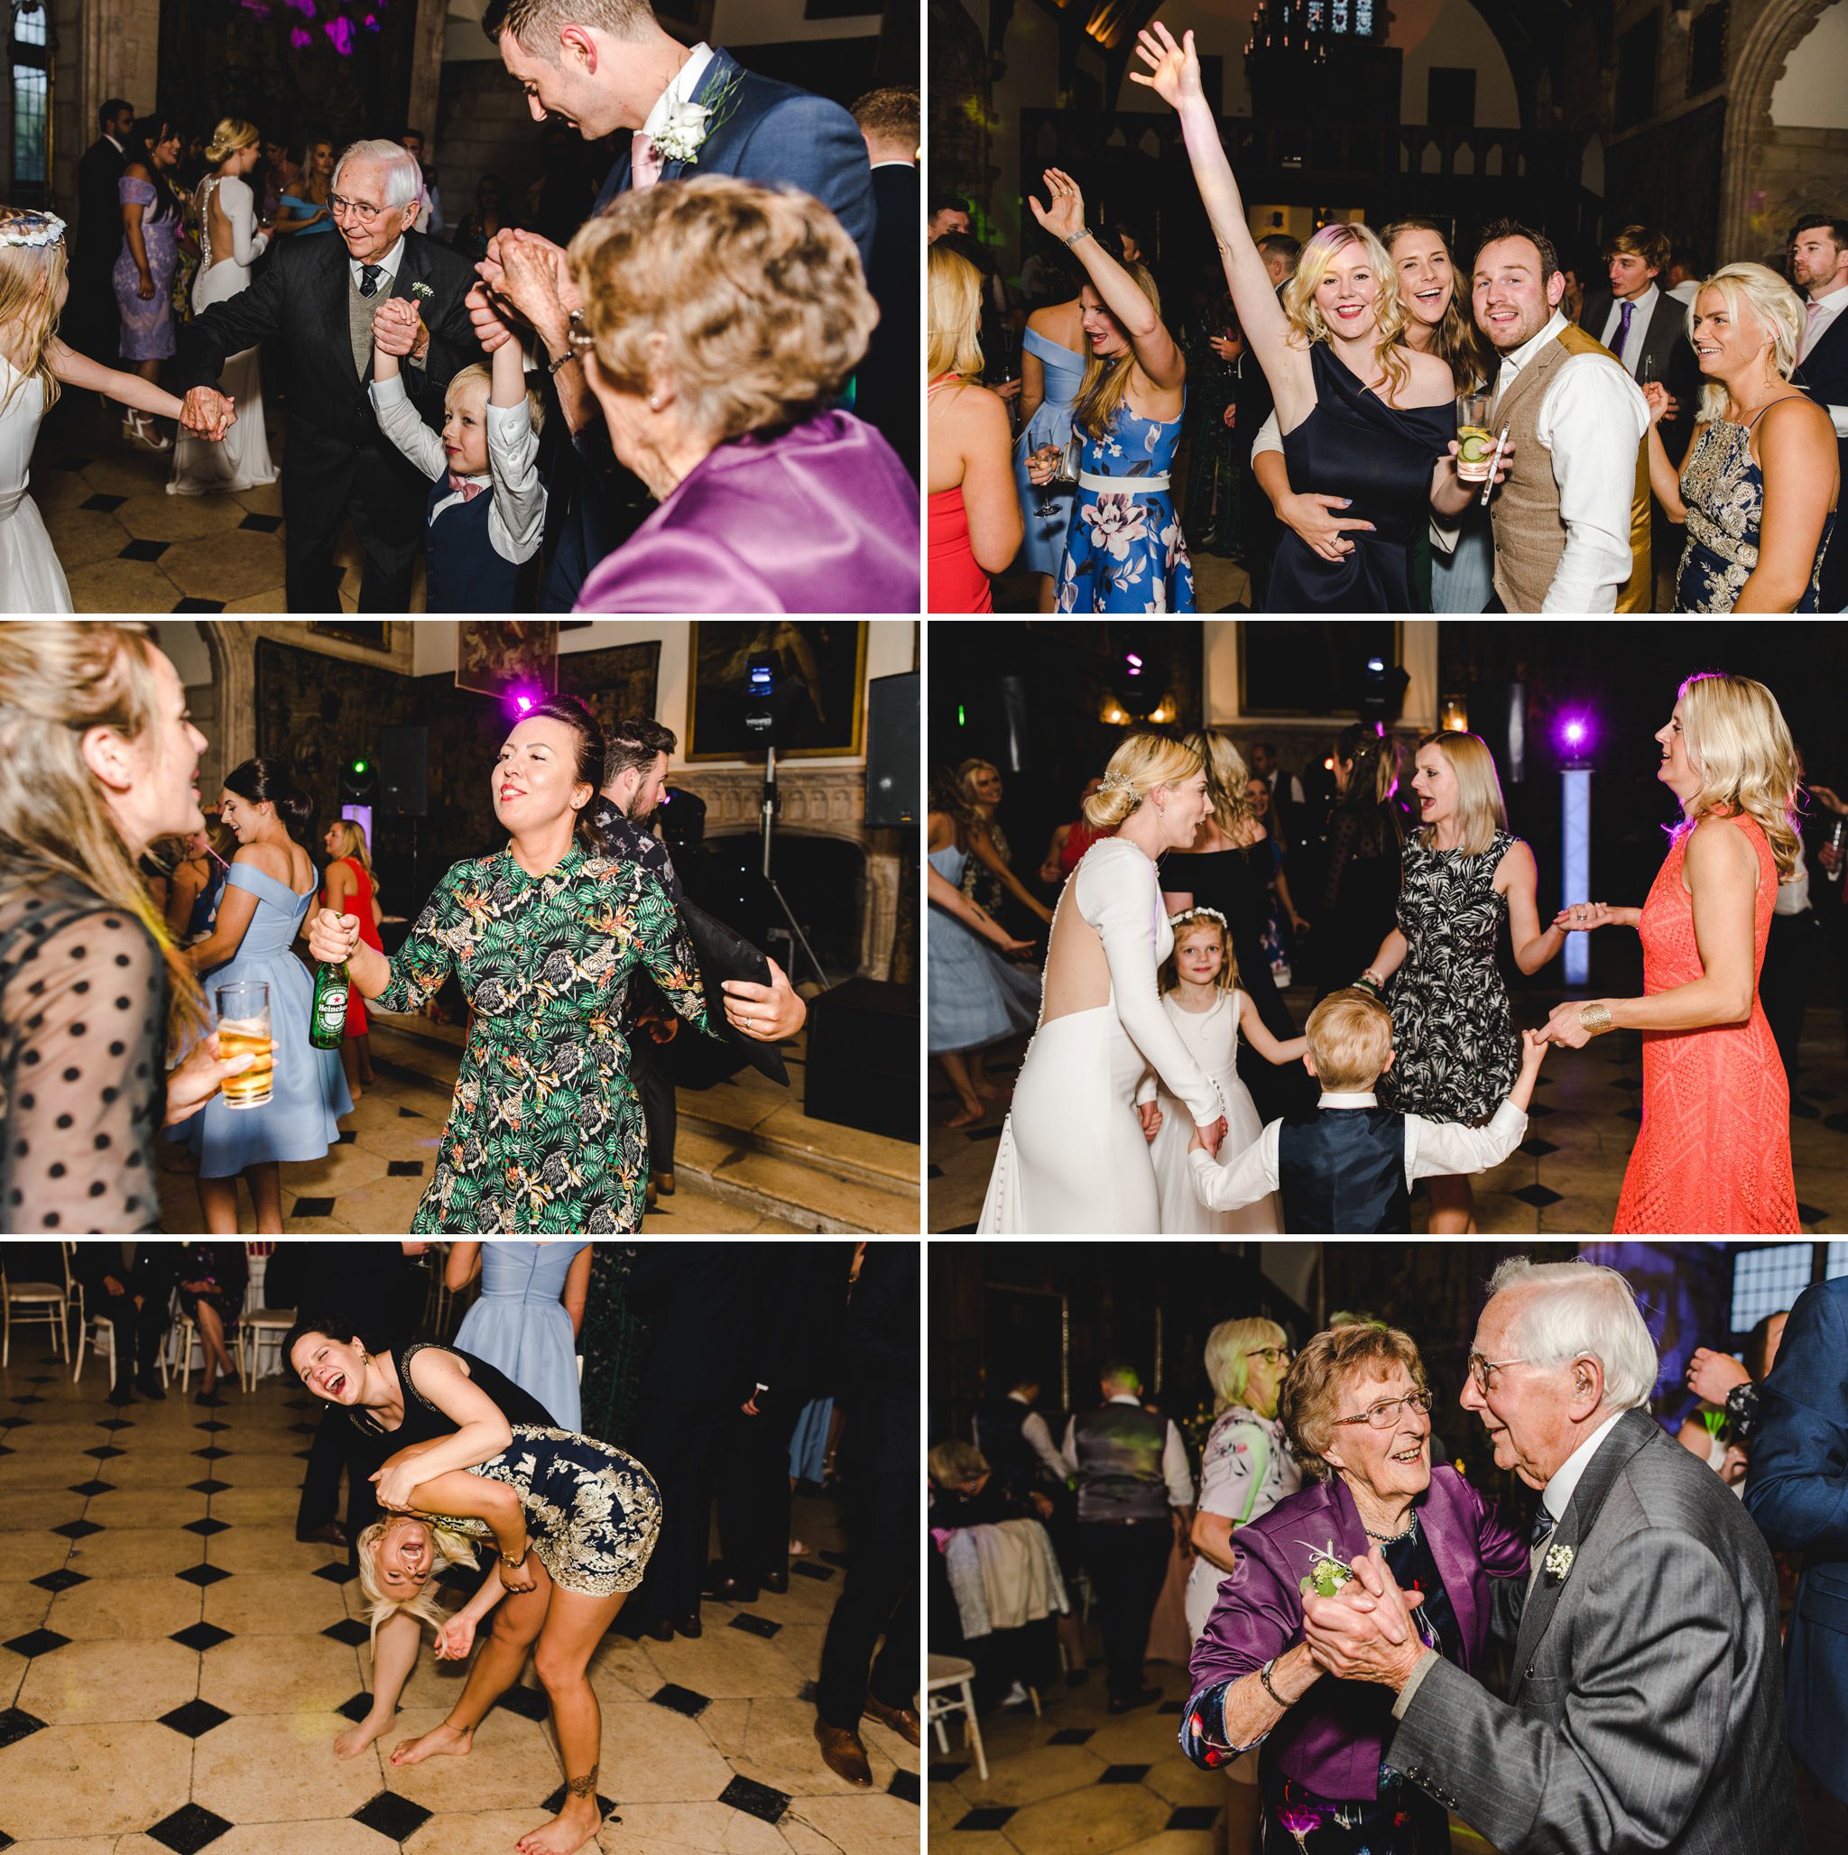
<svg viewBox="0 0 1848 1855">
<path fill-rule="evenodd" d="M 282 464 L 288 416 L 263 403 L 269 454 Z M 173 453 L 122 438 L 121 406 L 67 393 L 39 432 L 32 497 L 71 581 L 78 612 L 286 612 L 282 488 L 167 495 Z M 171 429 L 169 429 L 171 436 Z M 360 545 L 334 549 L 341 610 L 358 610 Z M 423 558 L 410 610 L 423 610 Z"/>
</svg>

